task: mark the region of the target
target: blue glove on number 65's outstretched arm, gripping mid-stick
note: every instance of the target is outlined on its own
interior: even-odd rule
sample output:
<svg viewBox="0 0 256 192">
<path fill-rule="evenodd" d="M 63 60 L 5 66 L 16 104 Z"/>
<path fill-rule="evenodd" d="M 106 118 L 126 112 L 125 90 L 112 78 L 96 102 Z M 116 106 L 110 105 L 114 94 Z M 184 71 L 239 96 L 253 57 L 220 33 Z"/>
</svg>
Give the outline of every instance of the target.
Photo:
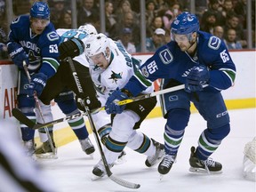
<svg viewBox="0 0 256 192">
<path fill-rule="evenodd" d="M 119 100 L 128 99 L 128 95 L 117 87 L 116 91 L 108 97 L 108 100 L 105 104 L 105 110 L 107 114 L 120 114 L 124 111 L 125 105 L 117 105 L 116 102 Z"/>
</svg>

